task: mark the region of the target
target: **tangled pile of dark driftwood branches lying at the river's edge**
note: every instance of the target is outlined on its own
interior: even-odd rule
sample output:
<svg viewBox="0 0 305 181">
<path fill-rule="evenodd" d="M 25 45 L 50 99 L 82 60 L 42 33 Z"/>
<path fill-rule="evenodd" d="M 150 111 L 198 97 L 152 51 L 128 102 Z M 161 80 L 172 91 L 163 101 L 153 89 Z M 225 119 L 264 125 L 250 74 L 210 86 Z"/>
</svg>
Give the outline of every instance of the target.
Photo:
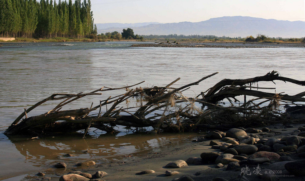
<svg viewBox="0 0 305 181">
<path fill-rule="evenodd" d="M 252 86 L 260 81 L 273 82 L 274 80 L 305 85 L 305 81 L 282 77 L 276 71 L 249 79 L 221 80 L 210 89 L 201 92 L 196 98 L 187 98 L 182 94 L 190 86 L 198 85 L 201 81 L 215 74 L 217 73 L 179 88 L 171 86 L 180 78 L 165 87 L 130 89 L 143 83 L 143 81 L 127 87 L 102 87 L 90 93 L 52 94 L 50 97 L 25 109 L 5 131 L 5 134 L 54 134 L 79 130 L 84 130 L 86 134 L 90 127 L 117 134 L 119 132 L 118 126 L 126 126 L 127 130 L 132 128 L 137 131 L 147 127 L 155 131 L 168 132 L 203 129 L 226 130 L 238 126 L 267 125 L 287 121 L 289 118 L 285 115 L 285 112 L 283 113 L 282 105 L 300 105 L 295 104 L 295 102 L 305 102 L 305 98 L 303 98 L 305 92 L 291 96 L 259 91 L 259 89 L 275 88 Z M 126 93 L 99 101 L 99 104 L 94 107 L 92 103 L 90 108 L 60 110 L 68 103 L 84 96 L 101 95 L 103 91 L 117 89 L 125 89 Z M 246 100 L 247 96 L 251 99 Z M 124 101 L 130 98 L 141 99 L 143 103 L 140 106 L 126 108 Z M 244 100 L 240 102 L 238 98 Z M 51 100 L 63 101 L 45 114 L 27 117 L 28 112 Z M 220 104 L 220 101 L 223 100 L 228 100 L 230 106 Z M 236 102 L 239 102 L 239 104 L 236 104 Z M 198 103 L 202 105 L 201 108 L 197 107 Z M 102 112 L 102 110 L 106 111 Z"/>
</svg>

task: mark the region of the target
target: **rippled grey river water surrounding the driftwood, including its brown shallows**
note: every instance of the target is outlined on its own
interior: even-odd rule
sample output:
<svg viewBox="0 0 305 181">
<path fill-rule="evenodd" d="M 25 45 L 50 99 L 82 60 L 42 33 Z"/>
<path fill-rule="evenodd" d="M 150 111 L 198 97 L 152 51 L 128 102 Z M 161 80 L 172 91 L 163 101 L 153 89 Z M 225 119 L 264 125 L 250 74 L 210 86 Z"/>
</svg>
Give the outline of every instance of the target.
<svg viewBox="0 0 305 181">
<path fill-rule="evenodd" d="M 138 42 L 140 43 L 140 42 Z M 131 48 L 134 42 L 68 42 L 68 43 L 2 43 L 0 47 L 0 127 L 9 126 L 36 102 L 53 93 L 90 92 L 102 86 L 124 87 L 145 80 L 139 86 L 164 86 L 181 77 L 173 87 L 195 82 L 214 72 L 219 74 L 185 91 L 195 97 L 224 78 L 243 79 L 265 75 L 276 70 L 282 76 L 305 80 L 304 48 Z M 304 87 L 275 81 L 259 83 L 260 87 L 277 87 L 276 92 L 294 95 Z M 270 90 L 274 92 L 274 90 Z M 103 92 L 83 101 L 75 101 L 70 109 L 90 107 L 110 95 L 124 90 Z M 28 116 L 42 114 L 58 102 L 47 102 Z M 128 104 L 137 105 L 137 102 Z M 66 108 L 68 109 L 68 108 Z M 191 139 L 189 134 L 162 135 L 101 135 L 90 131 L 65 137 L 45 137 L 35 140 L 14 137 L 8 139 L 0 128 L 0 179 L 48 168 L 63 160 L 110 159 L 123 154 L 153 151 L 164 145 Z M 66 158 L 66 153 L 74 154 Z M 12 169 L 15 168 L 15 169 Z M 19 168 L 19 169 L 17 169 Z M 17 171 L 18 170 L 18 171 Z"/>
</svg>

